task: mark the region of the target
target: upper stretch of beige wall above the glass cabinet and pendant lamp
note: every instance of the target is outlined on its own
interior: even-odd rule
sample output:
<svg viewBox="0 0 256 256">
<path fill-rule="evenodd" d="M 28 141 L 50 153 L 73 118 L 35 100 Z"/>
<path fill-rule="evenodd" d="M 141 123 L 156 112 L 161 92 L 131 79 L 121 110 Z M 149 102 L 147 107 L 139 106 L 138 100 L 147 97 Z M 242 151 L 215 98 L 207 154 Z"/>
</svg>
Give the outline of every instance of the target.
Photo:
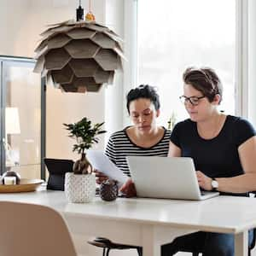
<svg viewBox="0 0 256 256">
<path fill-rule="evenodd" d="M 33 57 L 40 33 L 47 25 L 75 19 L 77 0 L 1 0 L 0 55 Z M 84 9 L 88 0 L 82 0 Z M 86 9 L 84 12 L 86 12 Z M 105 1 L 92 1 L 98 22 L 105 21 Z"/>
</svg>

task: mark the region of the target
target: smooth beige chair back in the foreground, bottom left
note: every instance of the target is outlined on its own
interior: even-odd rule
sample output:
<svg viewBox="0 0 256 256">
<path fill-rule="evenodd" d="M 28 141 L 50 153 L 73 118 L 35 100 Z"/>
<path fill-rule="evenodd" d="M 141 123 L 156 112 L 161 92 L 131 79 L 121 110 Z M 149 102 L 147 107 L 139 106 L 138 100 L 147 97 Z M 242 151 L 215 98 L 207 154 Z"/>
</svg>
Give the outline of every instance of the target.
<svg viewBox="0 0 256 256">
<path fill-rule="evenodd" d="M 0 255 L 75 256 L 61 214 L 54 209 L 0 201 Z"/>
</svg>

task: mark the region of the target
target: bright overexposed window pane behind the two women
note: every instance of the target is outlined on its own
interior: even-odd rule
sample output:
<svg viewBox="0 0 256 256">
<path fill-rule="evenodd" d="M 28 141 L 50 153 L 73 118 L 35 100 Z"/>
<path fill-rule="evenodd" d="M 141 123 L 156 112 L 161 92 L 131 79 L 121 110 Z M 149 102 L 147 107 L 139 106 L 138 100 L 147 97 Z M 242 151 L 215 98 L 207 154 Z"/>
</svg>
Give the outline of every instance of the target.
<svg viewBox="0 0 256 256">
<path fill-rule="evenodd" d="M 160 125 L 172 113 L 188 117 L 179 102 L 186 67 L 212 67 L 224 84 L 220 110 L 235 113 L 236 1 L 138 0 L 137 84 L 158 88 Z"/>
</svg>

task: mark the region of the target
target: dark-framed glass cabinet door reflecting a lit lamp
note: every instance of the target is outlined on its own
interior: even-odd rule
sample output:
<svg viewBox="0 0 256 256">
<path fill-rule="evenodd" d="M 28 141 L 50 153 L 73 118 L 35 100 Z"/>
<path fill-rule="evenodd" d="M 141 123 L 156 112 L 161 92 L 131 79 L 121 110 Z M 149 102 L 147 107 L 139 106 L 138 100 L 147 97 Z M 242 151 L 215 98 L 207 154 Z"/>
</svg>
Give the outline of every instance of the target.
<svg viewBox="0 0 256 256">
<path fill-rule="evenodd" d="M 0 56 L 0 169 L 44 178 L 44 91 L 34 62 Z M 2 174 L 0 173 L 0 174 Z"/>
</svg>

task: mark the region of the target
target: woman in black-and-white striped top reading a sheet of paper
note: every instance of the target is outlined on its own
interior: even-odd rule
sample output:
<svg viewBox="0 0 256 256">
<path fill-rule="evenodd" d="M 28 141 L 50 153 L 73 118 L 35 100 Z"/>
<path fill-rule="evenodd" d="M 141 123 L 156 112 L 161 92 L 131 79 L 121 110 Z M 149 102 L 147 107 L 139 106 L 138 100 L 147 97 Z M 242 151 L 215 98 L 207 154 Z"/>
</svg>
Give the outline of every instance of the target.
<svg viewBox="0 0 256 256">
<path fill-rule="evenodd" d="M 116 131 L 108 140 L 106 154 L 119 169 L 130 177 L 126 162 L 127 155 L 167 156 L 171 131 L 156 124 L 160 115 L 160 100 L 154 87 L 140 85 L 129 91 L 126 96 L 126 108 L 133 125 Z M 100 171 L 100 170 L 99 170 Z M 97 172 L 97 183 L 106 176 Z M 121 189 L 126 196 L 136 195 L 131 180 Z"/>
</svg>

